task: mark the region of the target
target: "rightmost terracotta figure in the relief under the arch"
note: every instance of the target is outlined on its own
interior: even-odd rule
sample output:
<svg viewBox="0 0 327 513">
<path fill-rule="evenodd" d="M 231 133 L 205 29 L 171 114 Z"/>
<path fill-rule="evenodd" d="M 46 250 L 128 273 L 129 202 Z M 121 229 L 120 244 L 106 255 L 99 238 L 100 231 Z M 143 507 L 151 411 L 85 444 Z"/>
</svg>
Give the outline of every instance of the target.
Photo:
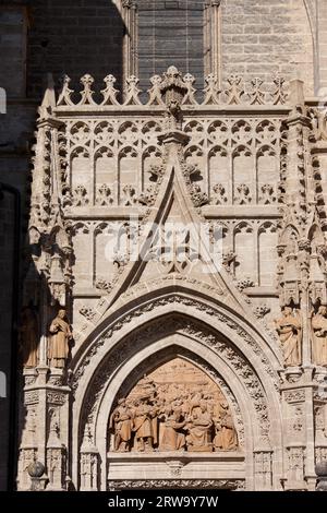
<svg viewBox="0 0 327 513">
<path fill-rule="evenodd" d="M 238 446 L 238 434 L 226 401 L 220 403 L 220 414 L 215 420 L 214 446 L 218 451 L 233 451 Z"/>
</svg>

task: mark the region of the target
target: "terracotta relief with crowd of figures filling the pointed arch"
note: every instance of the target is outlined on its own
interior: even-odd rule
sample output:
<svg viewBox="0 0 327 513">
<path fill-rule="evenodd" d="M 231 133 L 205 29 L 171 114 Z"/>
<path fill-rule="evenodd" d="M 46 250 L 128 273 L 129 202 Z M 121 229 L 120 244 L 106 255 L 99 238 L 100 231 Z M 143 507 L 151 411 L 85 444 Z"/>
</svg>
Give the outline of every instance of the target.
<svg viewBox="0 0 327 513">
<path fill-rule="evenodd" d="M 204 372 L 175 358 L 121 397 L 109 421 L 114 452 L 238 449 L 230 407 Z"/>
</svg>

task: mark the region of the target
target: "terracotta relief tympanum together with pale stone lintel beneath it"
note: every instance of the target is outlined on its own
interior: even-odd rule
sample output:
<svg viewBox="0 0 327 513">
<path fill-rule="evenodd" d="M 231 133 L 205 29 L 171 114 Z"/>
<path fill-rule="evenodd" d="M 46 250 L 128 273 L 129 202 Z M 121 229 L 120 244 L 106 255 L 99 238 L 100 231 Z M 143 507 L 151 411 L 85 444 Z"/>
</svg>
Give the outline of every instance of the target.
<svg viewBox="0 0 327 513">
<path fill-rule="evenodd" d="M 203 370 L 173 358 L 119 397 L 109 421 L 108 479 L 242 475 L 244 456 L 230 406 Z M 209 462 L 209 465 L 208 465 Z M 232 474 L 231 474 L 232 473 Z"/>
</svg>

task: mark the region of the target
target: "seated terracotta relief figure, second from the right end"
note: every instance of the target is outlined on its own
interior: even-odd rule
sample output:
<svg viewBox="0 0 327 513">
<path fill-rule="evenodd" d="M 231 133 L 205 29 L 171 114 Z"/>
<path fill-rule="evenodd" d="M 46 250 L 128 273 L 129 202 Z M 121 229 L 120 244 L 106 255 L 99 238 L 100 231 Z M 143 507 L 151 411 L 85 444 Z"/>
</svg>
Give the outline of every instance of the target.
<svg viewBox="0 0 327 513">
<path fill-rule="evenodd" d="M 199 411 L 192 413 L 187 418 L 186 436 L 187 451 L 190 452 L 210 452 L 213 451 L 213 417 L 207 409 L 205 401 L 199 401 Z"/>
</svg>

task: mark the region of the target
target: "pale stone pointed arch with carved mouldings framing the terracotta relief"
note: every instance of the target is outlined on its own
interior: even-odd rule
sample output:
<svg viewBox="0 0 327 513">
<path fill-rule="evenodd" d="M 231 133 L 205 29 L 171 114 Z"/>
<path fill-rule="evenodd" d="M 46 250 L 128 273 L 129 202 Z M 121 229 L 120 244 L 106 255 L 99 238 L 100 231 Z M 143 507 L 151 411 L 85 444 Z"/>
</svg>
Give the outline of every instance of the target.
<svg viewBox="0 0 327 513">
<path fill-rule="evenodd" d="M 122 383 L 126 380 L 133 382 L 133 369 L 140 368 L 142 374 L 149 358 L 154 355 L 157 358 L 160 351 L 167 358 L 173 347 L 182 355 L 189 351 L 194 361 L 197 355 L 201 365 L 213 369 L 226 383 L 230 395 L 235 397 L 243 419 L 244 437 L 247 437 L 244 453 L 246 475 L 251 476 L 247 482 L 250 489 L 254 482 L 253 454 L 264 446 L 274 453 L 274 486 L 279 486 L 280 469 L 276 468 L 276 458 L 280 457 L 282 446 L 277 391 L 279 351 L 274 350 L 274 343 L 262 338 L 255 322 L 252 325 L 252 321 L 241 320 L 237 310 L 222 301 L 213 301 L 203 290 L 196 293 L 196 286 L 192 293 L 190 288 L 162 284 L 159 291 L 157 287 L 154 288 L 156 291 L 119 301 L 119 306 L 111 310 L 75 356 L 73 430 L 80 433 L 78 440 L 73 441 L 75 482 L 78 450 L 87 422 L 92 426 L 94 442 L 100 452 L 105 489 L 107 442 L 104 426 L 108 423 L 114 397 Z M 137 320 L 136 330 L 133 319 Z"/>
</svg>

